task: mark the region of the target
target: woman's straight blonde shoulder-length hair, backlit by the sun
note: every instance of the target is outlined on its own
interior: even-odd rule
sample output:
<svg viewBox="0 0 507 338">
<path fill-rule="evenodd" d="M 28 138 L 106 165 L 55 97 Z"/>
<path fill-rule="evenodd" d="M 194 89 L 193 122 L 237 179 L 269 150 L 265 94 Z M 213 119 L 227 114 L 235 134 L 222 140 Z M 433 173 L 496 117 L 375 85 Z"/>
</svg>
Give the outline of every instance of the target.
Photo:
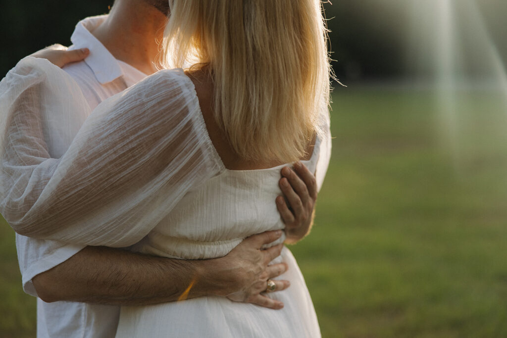
<svg viewBox="0 0 507 338">
<path fill-rule="evenodd" d="M 330 66 L 320 0 L 170 0 L 167 67 L 207 69 L 234 151 L 296 161 L 319 134 Z"/>
</svg>

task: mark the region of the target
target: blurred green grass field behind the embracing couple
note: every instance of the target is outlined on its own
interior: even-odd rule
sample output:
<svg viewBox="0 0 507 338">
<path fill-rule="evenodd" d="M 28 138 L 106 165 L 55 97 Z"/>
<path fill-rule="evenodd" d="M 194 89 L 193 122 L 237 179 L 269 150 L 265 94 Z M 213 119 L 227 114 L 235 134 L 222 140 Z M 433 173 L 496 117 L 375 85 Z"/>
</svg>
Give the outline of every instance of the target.
<svg viewBox="0 0 507 338">
<path fill-rule="evenodd" d="M 456 131 L 429 93 L 339 88 L 311 235 L 291 246 L 324 337 L 507 336 L 507 112 L 467 93 Z M 0 224 L 0 337 L 34 336 Z"/>
</svg>

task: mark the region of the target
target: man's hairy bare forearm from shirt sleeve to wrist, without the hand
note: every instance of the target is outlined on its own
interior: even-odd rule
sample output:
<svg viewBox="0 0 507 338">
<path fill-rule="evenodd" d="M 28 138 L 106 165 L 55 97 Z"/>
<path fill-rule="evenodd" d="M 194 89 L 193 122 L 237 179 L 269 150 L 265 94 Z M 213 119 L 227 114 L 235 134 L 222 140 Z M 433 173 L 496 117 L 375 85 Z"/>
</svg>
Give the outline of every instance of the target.
<svg viewBox="0 0 507 338">
<path fill-rule="evenodd" d="M 45 302 L 149 305 L 220 293 L 206 276 L 214 264 L 89 246 L 32 281 Z"/>
</svg>

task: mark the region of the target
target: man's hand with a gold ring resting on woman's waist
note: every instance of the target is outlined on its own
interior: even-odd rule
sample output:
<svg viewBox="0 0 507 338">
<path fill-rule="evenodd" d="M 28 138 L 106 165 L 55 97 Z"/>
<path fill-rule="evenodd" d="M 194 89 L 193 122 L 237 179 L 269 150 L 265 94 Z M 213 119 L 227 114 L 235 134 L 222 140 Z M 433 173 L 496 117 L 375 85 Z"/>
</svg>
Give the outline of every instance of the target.
<svg viewBox="0 0 507 338">
<path fill-rule="evenodd" d="M 270 231 L 246 238 L 228 255 L 214 259 L 214 274 L 208 278 L 218 291 L 235 302 L 256 304 L 270 309 L 281 309 L 283 303 L 275 301 L 261 292 L 266 291 L 267 281 L 287 271 L 285 263 L 269 265 L 280 255 L 283 244 L 262 250 L 264 244 L 274 242 L 281 231 Z M 220 276 L 217 271 L 222 271 Z M 286 289 L 290 284 L 286 280 L 274 280 L 276 291 Z"/>
</svg>

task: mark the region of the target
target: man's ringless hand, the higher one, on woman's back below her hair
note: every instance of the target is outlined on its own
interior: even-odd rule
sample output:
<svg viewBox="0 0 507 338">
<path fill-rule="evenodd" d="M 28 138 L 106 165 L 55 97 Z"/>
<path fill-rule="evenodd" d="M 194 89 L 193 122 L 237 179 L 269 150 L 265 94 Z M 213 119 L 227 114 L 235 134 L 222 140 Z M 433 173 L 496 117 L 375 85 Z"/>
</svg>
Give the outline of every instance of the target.
<svg viewBox="0 0 507 338">
<path fill-rule="evenodd" d="M 301 162 L 296 162 L 294 169 L 282 168 L 283 177 L 279 184 L 285 198 L 276 198 L 276 207 L 285 223 L 285 242 L 290 244 L 300 241 L 309 233 L 317 200 L 315 175 Z"/>
</svg>

